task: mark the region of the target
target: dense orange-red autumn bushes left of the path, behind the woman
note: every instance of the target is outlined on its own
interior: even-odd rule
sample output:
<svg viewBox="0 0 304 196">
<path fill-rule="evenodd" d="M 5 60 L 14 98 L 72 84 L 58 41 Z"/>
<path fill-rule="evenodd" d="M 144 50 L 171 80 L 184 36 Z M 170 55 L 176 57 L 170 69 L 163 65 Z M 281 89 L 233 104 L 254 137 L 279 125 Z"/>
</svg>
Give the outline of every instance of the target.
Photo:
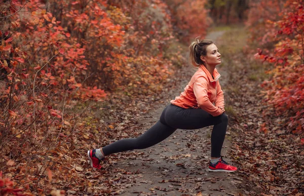
<svg viewBox="0 0 304 196">
<path fill-rule="evenodd" d="M 1 7 L 4 135 L 17 124 L 20 137 L 47 116 L 64 123 L 70 100 L 102 100 L 104 90 L 158 92 L 182 59 L 178 48 L 164 54 L 174 36 L 158 1 L 14 0 Z"/>
</svg>

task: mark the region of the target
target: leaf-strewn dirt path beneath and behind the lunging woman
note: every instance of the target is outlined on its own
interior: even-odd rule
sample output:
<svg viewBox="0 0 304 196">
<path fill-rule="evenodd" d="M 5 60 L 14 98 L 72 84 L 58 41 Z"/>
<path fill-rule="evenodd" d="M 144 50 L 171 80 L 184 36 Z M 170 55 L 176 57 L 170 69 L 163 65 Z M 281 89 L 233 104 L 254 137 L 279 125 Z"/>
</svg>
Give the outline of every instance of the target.
<svg viewBox="0 0 304 196">
<path fill-rule="evenodd" d="M 216 40 L 222 34 L 223 31 L 213 32 L 207 38 Z M 220 66 L 218 70 L 224 87 L 225 70 Z M 181 70 L 183 84 L 170 90 L 165 100 L 162 100 L 164 104 L 140 122 L 142 132 L 158 121 L 163 108 L 183 91 L 194 72 L 190 65 Z M 207 171 L 211 130 L 212 126 L 198 130 L 177 130 L 155 146 L 123 152 L 129 153 L 127 159 L 109 164 L 105 170 L 116 171 L 115 175 L 120 178 L 117 183 L 120 187 L 126 187 L 118 190 L 117 193 L 121 195 L 235 195 L 238 192 L 235 184 L 241 182 L 237 172 L 230 174 Z M 229 137 L 226 138 L 222 155 L 230 162 L 228 151 L 231 144 Z M 120 153 L 116 156 L 120 156 Z"/>
</svg>

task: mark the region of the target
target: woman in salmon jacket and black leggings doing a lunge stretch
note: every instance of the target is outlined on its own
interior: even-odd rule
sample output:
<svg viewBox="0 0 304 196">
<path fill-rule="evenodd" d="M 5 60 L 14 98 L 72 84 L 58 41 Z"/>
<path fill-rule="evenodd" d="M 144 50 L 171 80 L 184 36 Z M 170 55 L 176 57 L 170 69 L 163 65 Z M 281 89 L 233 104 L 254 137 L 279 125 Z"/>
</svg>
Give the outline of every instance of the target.
<svg viewBox="0 0 304 196">
<path fill-rule="evenodd" d="M 224 113 L 224 96 L 219 85 L 220 74 L 215 66 L 221 63 L 217 47 L 210 40 L 199 41 L 198 37 L 190 45 L 190 58 L 198 70 L 185 87 L 184 92 L 170 101 L 161 114 L 160 120 L 137 138 L 122 139 L 103 148 L 88 150 L 88 158 L 93 168 L 100 169 L 104 156 L 133 149 L 153 146 L 176 129 L 200 129 L 213 126 L 211 134 L 211 161 L 209 171 L 235 172 L 221 158 L 221 148 L 227 129 L 227 115 Z"/>
</svg>

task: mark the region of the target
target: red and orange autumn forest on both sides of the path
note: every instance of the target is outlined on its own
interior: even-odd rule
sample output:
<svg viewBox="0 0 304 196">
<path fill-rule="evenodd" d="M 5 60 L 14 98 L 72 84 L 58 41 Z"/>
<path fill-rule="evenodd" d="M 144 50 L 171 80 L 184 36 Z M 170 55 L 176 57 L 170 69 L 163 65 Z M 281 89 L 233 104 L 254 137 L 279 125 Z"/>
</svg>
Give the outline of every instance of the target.
<svg viewBox="0 0 304 196">
<path fill-rule="evenodd" d="M 214 26 L 245 25 L 244 51 L 267 69 L 260 85 L 269 109 L 262 112 L 267 120 L 260 133 L 279 130 L 303 145 L 303 5 L 301 0 L 2 1 L 1 193 L 49 193 L 45 184 L 54 181 L 52 171 L 70 169 L 59 163 L 79 155 L 75 146 L 89 146 L 92 137 L 132 136 L 117 134 L 126 128 L 119 122 L 134 120 L 131 111 L 139 107 L 146 108 L 143 113 L 153 107 L 183 68 L 184 45 Z M 93 110 L 98 112 L 92 115 Z M 275 130 L 274 118 L 280 119 Z M 46 164 L 37 169 L 35 162 Z"/>
</svg>

